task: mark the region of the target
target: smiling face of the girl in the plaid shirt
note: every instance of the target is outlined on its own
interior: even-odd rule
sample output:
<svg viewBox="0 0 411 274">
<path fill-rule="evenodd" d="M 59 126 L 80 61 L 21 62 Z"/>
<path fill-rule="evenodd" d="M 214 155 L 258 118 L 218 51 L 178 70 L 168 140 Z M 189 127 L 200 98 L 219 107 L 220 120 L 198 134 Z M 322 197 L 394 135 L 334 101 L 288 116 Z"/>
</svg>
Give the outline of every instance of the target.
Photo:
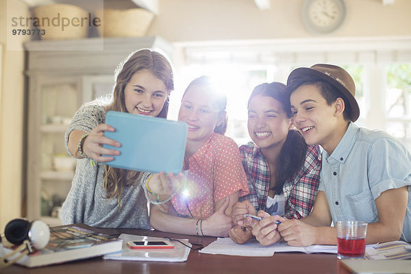
<svg viewBox="0 0 411 274">
<path fill-rule="evenodd" d="M 262 149 L 282 147 L 291 125 L 282 104 L 272 97 L 256 95 L 249 101 L 248 109 L 251 140 Z"/>
</svg>

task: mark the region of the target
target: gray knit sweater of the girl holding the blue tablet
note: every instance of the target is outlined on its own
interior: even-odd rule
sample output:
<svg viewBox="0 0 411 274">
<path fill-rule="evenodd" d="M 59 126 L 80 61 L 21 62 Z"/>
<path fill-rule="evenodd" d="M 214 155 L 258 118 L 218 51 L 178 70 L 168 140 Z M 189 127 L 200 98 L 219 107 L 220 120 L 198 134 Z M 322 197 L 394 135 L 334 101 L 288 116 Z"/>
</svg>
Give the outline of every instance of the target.
<svg viewBox="0 0 411 274">
<path fill-rule="evenodd" d="M 75 130 L 90 132 L 105 121 L 105 110 L 101 105 L 84 105 L 77 110 L 71 125 L 66 130 L 65 142 L 68 149 L 69 134 Z M 69 154 L 73 156 L 73 154 Z M 121 192 L 121 208 L 117 197 L 107 199 L 103 189 L 104 165 L 90 164 L 90 159 L 77 160 L 71 190 L 62 206 L 62 223 L 86 223 L 93 227 L 123 227 L 150 229 L 147 199 L 140 182 L 128 186 Z M 147 173 L 141 182 L 145 182 Z"/>
</svg>

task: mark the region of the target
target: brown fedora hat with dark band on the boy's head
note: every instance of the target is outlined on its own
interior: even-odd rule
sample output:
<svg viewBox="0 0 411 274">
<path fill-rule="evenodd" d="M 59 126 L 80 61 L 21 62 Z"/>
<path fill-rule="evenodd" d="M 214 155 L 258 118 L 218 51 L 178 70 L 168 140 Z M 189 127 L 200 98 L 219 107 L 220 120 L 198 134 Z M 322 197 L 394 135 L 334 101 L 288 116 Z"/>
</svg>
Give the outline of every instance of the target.
<svg viewBox="0 0 411 274">
<path fill-rule="evenodd" d="M 357 121 L 360 116 L 360 108 L 356 100 L 356 84 L 354 80 L 340 66 L 334 66 L 332 64 L 314 64 L 310 68 L 298 68 L 290 73 L 287 79 L 287 86 L 290 85 L 292 80 L 298 77 L 318 77 L 321 80 L 332 84 L 338 91 L 340 91 L 345 99 L 347 99 L 351 111 L 349 113 L 349 119 L 353 122 Z"/>
</svg>

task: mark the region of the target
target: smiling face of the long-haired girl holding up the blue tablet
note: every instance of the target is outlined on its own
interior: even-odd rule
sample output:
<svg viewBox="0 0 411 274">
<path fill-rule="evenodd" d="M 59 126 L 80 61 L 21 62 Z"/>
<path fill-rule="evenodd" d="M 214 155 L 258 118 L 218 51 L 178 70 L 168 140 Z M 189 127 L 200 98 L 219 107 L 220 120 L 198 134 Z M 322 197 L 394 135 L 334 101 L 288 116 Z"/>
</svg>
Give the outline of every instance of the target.
<svg viewBox="0 0 411 274">
<path fill-rule="evenodd" d="M 167 96 L 164 82 L 147 69 L 134 73 L 124 88 L 125 107 L 132 114 L 158 116 Z"/>
</svg>

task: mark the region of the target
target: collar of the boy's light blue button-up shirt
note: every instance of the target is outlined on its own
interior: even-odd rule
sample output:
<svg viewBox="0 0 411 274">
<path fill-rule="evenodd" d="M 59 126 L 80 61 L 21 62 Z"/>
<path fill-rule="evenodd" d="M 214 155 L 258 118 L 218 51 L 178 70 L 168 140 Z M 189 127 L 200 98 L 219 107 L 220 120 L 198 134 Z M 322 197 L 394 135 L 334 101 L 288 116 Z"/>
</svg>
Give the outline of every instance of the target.
<svg viewBox="0 0 411 274">
<path fill-rule="evenodd" d="M 336 146 L 332 154 L 329 155 L 327 151 L 323 149 L 323 158 L 326 159 L 327 162 L 337 161 L 341 164 L 344 164 L 349 153 L 354 147 L 359 130 L 360 129 L 356 125 L 354 125 L 354 123 L 349 122 L 347 131 L 345 132 L 340 142 L 338 142 L 338 145 Z"/>
</svg>

